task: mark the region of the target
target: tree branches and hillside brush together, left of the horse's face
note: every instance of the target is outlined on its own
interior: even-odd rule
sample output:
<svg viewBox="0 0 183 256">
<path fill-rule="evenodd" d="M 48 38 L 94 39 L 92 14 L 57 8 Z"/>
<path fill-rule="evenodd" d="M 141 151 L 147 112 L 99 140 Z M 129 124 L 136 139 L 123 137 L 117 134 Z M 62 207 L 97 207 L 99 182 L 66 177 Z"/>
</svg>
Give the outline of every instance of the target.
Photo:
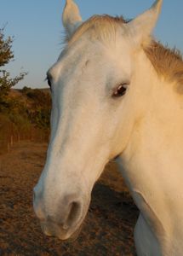
<svg viewBox="0 0 183 256">
<path fill-rule="evenodd" d="M 49 90 L 12 89 L 26 75 L 20 73 L 12 79 L 4 69 L 14 59 L 12 44 L 13 38 L 5 38 L 4 29 L 0 29 L 0 148 L 20 139 L 38 140 L 49 135 Z"/>
</svg>

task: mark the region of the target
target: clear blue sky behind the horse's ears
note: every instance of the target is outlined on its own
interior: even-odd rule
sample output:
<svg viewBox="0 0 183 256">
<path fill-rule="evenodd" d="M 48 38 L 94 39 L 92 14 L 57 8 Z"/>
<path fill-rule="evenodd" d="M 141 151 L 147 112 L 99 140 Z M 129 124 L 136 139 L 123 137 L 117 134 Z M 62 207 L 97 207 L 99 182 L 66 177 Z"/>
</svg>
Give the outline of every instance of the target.
<svg viewBox="0 0 183 256">
<path fill-rule="evenodd" d="M 0 27 L 14 36 L 14 61 L 6 68 L 12 77 L 29 74 L 16 87 L 46 87 L 45 73 L 60 55 L 63 27 L 61 13 L 65 0 L 0 0 Z M 149 8 L 153 0 L 76 0 L 83 20 L 94 14 L 133 18 Z M 156 38 L 183 52 L 183 1 L 164 0 L 162 15 L 154 32 Z"/>
</svg>

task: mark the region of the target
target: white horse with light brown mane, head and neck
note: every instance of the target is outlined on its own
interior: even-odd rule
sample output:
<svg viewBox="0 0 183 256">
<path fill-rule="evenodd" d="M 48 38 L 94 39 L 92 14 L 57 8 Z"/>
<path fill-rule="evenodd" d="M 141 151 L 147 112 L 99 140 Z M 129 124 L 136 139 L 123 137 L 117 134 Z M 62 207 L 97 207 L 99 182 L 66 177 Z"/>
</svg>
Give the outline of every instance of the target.
<svg viewBox="0 0 183 256">
<path fill-rule="evenodd" d="M 129 22 L 83 22 L 66 0 L 67 44 L 48 72 L 51 138 L 34 189 L 49 236 L 76 233 L 94 183 L 116 157 L 140 209 L 138 255 L 183 255 L 183 61 L 151 37 L 162 2 Z"/>
</svg>

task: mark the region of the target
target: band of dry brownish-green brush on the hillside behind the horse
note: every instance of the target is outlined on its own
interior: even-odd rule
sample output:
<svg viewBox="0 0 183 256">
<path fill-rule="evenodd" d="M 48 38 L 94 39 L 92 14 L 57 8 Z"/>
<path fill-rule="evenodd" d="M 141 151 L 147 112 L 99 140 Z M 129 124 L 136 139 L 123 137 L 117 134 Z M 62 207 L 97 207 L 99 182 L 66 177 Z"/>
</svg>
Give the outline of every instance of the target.
<svg viewBox="0 0 183 256">
<path fill-rule="evenodd" d="M 48 140 L 49 90 L 11 89 L 3 104 L 0 102 L 0 107 L 0 153 L 1 148 L 9 148 L 9 144 L 20 140 Z"/>
</svg>

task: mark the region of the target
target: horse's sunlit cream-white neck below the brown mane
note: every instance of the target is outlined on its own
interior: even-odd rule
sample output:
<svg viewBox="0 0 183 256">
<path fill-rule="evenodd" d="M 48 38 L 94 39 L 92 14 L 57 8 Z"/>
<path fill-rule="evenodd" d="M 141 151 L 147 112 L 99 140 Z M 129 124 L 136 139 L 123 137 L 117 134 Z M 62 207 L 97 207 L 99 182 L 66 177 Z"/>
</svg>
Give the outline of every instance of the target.
<svg viewBox="0 0 183 256">
<path fill-rule="evenodd" d="M 145 55 L 140 58 L 136 79 L 141 84 L 142 106 L 121 156 L 123 177 L 146 218 L 182 237 L 183 99 L 175 95 L 172 84 L 155 77 Z"/>
</svg>

